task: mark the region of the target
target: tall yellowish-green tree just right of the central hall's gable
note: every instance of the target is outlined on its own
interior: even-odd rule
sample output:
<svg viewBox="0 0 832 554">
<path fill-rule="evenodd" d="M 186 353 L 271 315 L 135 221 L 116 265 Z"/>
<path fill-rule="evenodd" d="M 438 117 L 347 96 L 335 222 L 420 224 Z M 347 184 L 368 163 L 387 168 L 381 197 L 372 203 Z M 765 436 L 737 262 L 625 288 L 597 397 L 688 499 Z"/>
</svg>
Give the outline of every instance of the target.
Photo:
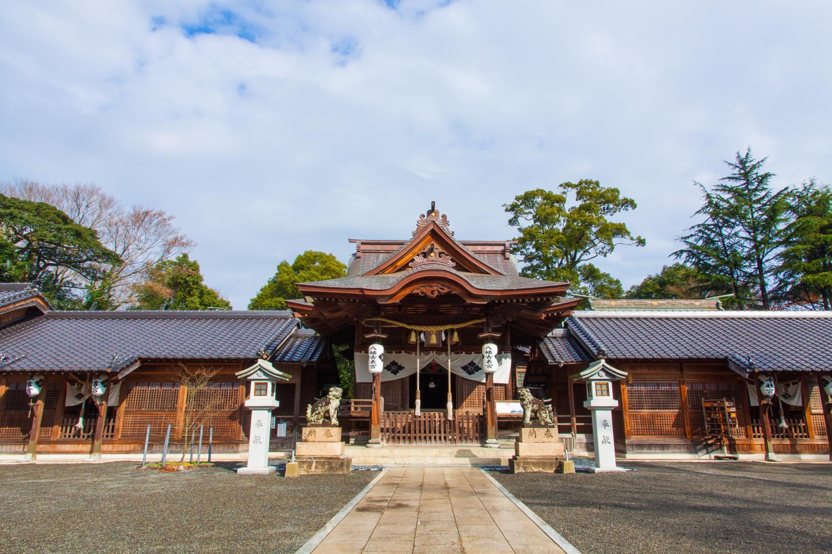
<svg viewBox="0 0 832 554">
<path fill-rule="evenodd" d="M 617 279 L 594 266 L 581 268 L 591 260 L 607 257 L 617 246 L 644 246 L 644 239 L 632 235 L 625 224 L 610 220 L 635 209 L 636 201 L 622 197 L 616 188 L 587 179 L 562 183 L 557 188 L 558 192 L 528 190 L 515 196 L 511 204 L 503 205 L 511 214 L 508 225 L 517 227 L 520 233 L 514 252 L 524 264 L 521 275 L 567 281 L 575 285 L 576 291 L 597 288 L 611 294 L 608 287 Z M 578 282 L 582 277 L 600 280 L 581 288 Z M 617 286 L 621 288 L 620 283 Z"/>
</svg>

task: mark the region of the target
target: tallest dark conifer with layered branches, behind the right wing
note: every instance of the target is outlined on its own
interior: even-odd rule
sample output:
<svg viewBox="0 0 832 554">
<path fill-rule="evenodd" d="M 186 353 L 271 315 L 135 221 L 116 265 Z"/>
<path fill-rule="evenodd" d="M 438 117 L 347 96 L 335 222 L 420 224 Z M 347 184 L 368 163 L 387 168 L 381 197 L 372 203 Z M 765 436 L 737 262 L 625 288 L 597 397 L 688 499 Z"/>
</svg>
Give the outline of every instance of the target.
<svg viewBox="0 0 832 554">
<path fill-rule="evenodd" d="M 780 251 L 788 235 L 790 190 L 772 190 L 773 173 L 763 171 L 748 148 L 725 161 L 731 173 L 702 191 L 696 215 L 705 220 L 681 237 L 677 259 L 696 268 L 697 279 L 717 294 L 735 294 L 737 308 L 771 309 L 778 283 Z"/>
</svg>

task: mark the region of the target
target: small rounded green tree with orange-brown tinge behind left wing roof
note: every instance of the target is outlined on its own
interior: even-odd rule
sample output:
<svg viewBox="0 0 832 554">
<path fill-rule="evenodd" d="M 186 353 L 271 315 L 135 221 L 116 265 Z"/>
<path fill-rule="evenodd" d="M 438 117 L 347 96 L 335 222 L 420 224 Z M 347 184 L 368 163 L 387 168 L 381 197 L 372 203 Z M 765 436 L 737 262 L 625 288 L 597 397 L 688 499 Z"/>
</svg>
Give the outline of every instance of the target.
<svg viewBox="0 0 832 554">
<path fill-rule="evenodd" d="M 203 280 L 199 263 L 187 254 L 161 261 L 134 285 L 132 309 L 231 309 L 228 300 Z"/>
</svg>

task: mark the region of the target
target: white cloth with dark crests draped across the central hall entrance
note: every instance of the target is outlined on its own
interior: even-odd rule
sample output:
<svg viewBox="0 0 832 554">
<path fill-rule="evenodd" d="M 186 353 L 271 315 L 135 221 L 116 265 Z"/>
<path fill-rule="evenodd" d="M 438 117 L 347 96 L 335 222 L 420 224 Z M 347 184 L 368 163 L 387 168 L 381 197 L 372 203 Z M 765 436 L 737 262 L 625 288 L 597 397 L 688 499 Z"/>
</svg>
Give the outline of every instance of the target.
<svg viewBox="0 0 832 554">
<path fill-rule="evenodd" d="M 419 363 L 422 369 L 429 364 L 436 362 L 443 368 L 448 368 L 448 354 L 438 352 L 423 352 Z M 358 383 L 372 383 L 373 374 L 369 373 L 369 354 L 366 352 L 355 353 L 355 381 Z M 384 370 L 381 372 L 381 380 L 394 381 L 409 377 L 416 373 L 415 352 L 385 352 Z M 451 373 L 460 377 L 485 383 L 483 372 L 483 354 L 459 353 L 451 354 Z M 509 353 L 497 354 L 497 371 L 494 373 L 494 383 L 506 384 L 512 375 L 512 355 Z"/>
</svg>

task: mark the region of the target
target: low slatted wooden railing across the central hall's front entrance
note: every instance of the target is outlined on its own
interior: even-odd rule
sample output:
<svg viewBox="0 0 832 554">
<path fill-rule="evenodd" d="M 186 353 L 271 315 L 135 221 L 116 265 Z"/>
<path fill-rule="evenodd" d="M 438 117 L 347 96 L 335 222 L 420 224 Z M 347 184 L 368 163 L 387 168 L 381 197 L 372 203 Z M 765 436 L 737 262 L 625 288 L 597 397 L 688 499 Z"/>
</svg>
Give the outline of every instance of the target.
<svg viewBox="0 0 832 554">
<path fill-rule="evenodd" d="M 392 444 L 479 443 L 483 438 L 483 414 L 454 413 L 448 420 L 444 412 L 383 412 L 381 438 Z"/>
</svg>

